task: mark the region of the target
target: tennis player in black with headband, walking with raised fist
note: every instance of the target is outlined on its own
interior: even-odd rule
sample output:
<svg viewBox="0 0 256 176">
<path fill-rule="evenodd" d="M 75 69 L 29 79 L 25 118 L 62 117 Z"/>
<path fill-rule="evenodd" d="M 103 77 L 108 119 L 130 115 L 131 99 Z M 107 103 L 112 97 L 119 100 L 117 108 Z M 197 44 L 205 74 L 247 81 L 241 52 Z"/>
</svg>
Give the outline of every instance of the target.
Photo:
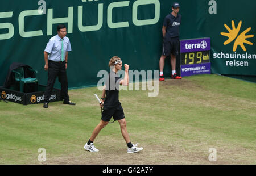
<svg viewBox="0 0 256 176">
<path fill-rule="evenodd" d="M 125 77 L 124 79 L 120 79 L 117 72 L 122 70 L 122 60 L 118 56 L 114 56 L 109 61 L 110 73 L 108 80 L 104 85 L 104 89 L 102 90 L 101 97 L 101 108 L 103 107 L 101 121 L 94 128 L 92 135 L 88 143 L 84 145 L 84 149 L 89 150 L 90 152 L 98 152 L 99 150 L 95 148 L 93 141 L 96 139 L 98 133 L 100 133 L 101 129 L 108 125 L 110 119 L 113 116 L 114 120 L 117 120 L 120 124 L 121 133 L 123 138 L 126 141 L 128 146 L 127 153 L 135 153 L 141 151 L 143 148 L 137 147 L 137 144 L 133 145 L 131 143 L 130 137 L 126 128 L 126 120 L 125 114 L 123 112 L 123 108 L 121 103 L 119 102 L 119 85 L 128 86 L 129 85 L 129 65 L 125 64 Z"/>
</svg>

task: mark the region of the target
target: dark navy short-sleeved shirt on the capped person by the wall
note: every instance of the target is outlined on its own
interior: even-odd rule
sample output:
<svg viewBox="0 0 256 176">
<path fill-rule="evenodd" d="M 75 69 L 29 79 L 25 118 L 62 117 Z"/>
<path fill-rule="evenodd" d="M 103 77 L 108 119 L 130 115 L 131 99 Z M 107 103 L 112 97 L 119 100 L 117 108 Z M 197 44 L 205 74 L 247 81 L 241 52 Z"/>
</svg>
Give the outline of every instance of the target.
<svg viewBox="0 0 256 176">
<path fill-rule="evenodd" d="M 164 18 L 163 26 L 166 26 L 166 35 L 164 36 L 164 40 L 170 40 L 171 37 L 180 36 L 180 23 L 180 14 L 177 14 L 177 17 L 172 14 L 168 14 L 166 18 Z"/>
</svg>

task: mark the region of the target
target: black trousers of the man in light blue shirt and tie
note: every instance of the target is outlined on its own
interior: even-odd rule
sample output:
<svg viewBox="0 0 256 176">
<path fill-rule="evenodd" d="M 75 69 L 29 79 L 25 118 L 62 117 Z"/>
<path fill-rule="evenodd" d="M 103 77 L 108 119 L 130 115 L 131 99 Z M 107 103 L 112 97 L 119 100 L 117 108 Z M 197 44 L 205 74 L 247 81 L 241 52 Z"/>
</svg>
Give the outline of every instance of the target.
<svg viewBox="0 0 256 176">
<path fill-rule="evenodd" d="M 68 77 L 65 69 L 65 62 L 54 62 L 48 60 L 48 81 L 46 86 L 46 91 L 44 92 L 44 103 L 49 103 L 52 94 L 52 89 L 56 78 L 59 78 L 61 87 L 61 99 L 64 102 L 69 101 L 68 96 Z"/>
</svg>

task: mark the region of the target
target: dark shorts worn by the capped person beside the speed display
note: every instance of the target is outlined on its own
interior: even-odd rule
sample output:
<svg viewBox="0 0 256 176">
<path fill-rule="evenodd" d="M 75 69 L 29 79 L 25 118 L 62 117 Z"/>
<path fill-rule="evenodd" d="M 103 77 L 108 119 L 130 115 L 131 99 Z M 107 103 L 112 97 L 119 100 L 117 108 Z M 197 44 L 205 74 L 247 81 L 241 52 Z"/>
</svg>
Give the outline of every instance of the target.
<svg viewBox="0 0 256 176">
<path fill-rule="evenodd" d="M 171 54 L 175 56 L 178 55 L 179 45 L 180 45 L 179 37 L 174 37 L 174 38 L 171 38 L 170 40 L 163 40 L 162 55 L 164 56 L 169 56 Z"/>
</svg>

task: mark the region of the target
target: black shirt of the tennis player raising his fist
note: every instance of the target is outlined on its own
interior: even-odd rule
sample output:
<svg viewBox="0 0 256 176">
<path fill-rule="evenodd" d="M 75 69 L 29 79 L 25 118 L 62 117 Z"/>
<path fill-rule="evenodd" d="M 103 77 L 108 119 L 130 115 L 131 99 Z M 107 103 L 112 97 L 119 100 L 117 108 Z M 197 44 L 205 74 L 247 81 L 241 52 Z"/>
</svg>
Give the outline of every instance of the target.
<svg viewBox="0 0 256 176">
<path fill-rule="evenodd" d="M 119 106 L 119 85 L 120 77 L 112 70 L 106 80 L 106 97 L 104 100 L 104 110 Z"/>
</svg>

